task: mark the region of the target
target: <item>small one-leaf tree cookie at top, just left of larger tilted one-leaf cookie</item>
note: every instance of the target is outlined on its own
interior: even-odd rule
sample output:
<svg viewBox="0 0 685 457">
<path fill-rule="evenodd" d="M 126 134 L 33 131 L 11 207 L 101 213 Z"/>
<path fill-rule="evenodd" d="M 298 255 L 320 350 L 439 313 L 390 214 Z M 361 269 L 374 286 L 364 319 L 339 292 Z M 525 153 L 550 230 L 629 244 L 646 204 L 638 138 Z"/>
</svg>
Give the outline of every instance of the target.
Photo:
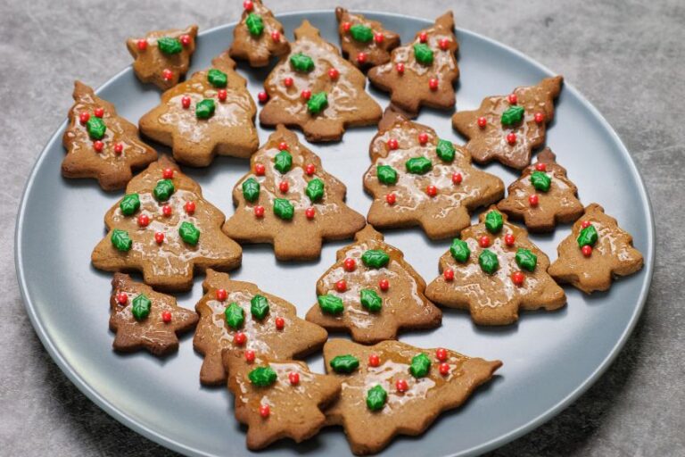
<svg viewBox="0 0 685 457">
<path fill-rule="evenodd" d="M 400 35 L 384 29 L 379 21 L 340 6 L 335 8 L 335 17 L 342 55 L 362 70 L 390 62 L 390 52 L 400 46 Z"/>
</svg>

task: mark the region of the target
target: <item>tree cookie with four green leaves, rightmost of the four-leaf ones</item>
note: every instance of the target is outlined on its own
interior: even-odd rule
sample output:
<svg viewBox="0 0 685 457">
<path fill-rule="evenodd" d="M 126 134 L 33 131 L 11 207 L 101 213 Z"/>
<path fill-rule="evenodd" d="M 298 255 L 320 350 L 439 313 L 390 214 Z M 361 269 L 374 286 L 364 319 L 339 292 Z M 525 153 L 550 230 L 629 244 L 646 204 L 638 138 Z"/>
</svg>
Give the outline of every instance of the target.
<svg viewBox="0 0 685 457">
<path fill-rule="evenodd" d="M 461 232 L 440 258 L 438 278 L 425 296 L 450 308 L 471 312 L 478 325 L 508 325 L 518 310 L 557 310 L 566 303 L 564 289 L 547 269 L 549 258 L 528 239 L 524 228 L 507 221 L 495 206 L 480 223 Z"/>
</svg>

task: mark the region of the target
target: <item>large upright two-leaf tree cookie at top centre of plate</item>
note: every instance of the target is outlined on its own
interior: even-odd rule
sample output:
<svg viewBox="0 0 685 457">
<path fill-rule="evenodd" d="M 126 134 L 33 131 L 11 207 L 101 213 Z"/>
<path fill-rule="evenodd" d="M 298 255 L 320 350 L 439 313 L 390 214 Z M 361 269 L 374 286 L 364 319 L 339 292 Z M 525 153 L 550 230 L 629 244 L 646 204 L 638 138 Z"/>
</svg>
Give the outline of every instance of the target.
<svg viewBox="0 0 685 457">
<path fill-rule="evenodd" d="M 334 141 L 346 127 L 375 124 L 381 107 L 365 90 L 367 79 L 309 21 L 295 30 L 296 41 L 264 82 L 265 126 L 297 126 L 308 141 Z"/>
</svg>

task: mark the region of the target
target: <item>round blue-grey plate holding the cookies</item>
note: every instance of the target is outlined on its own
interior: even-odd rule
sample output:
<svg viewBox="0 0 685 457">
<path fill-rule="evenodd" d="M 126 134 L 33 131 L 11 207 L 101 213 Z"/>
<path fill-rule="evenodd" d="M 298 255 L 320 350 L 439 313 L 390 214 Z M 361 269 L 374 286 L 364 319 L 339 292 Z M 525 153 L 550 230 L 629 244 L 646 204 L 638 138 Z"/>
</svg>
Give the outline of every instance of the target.
<svg viewBox="0 0 685 457">
<path fill-rule="evenodd" d="M 385 27 L 400 32 L 403 42 L 430 21 L 371 13 Z M 327 40 L 338 43 L 334 12 L 279 15 L 292 37 L 308 19 Z M 513 87 L 531 85 L 553 74 L 523 54 L 465 30 L 461 46 L 458 110 L 476 108 L 484 96 L 508 94 Z M 210 64 L 227 49 L 233 25 L 208 30 L 198 37 L 191 71 Z M 268 70 L 240 65 L 253 96 L 261 90 Z M 385 106 L 385 94 L 370 88 Z M 120 115 L 136 121 L 159 101 L 155 87 L 140 84 L 131 68 L 121 71 L 97 91 L 117 106 Z M 565 84 L 557 101 L 557 116 L 547 144 L 580 189 L 583 204 L 598 202 L 619 220 L 645 256 L 645 268 L 615 282 L 610 292 L 582 295 L 566 288 L 568 305 L 559 312 L 524 312 L 505 328 L 476 328 L 465 312 L 445 310 L 442 327 L 408 332 L 401 339 L 425 347 L 447 346 L 460 352 L 500 359 L 504 366 L 457 411 L 443 414 L 423 436 L 402 436 L 385 453 L 393 456 L 466 455 L 483 453 L 521 436 L 549 420 L 582 394 L 615 358 L 640 315 L 652 276 L 654 228 L 648 196 L 631 157 L 597 110 Z M 450 112 L 421 112 L 418 121 L 441 137 L 463 142 L 450 126 Z M 108 331 L 111 275 L 94 270 L 90 253 L 105 234 L 103 215 L 118 193 L 105 193 L 95 180 L 66 180 L 60 176 L 61 145 L 66 122 L 45 146 L 31 172 L 21 202 L 16 232 L 16 266 L 21 293 L 37 334 L 54 361 L 91 400 L 128 427 L 161 445 L 193 455 L 243 455 L 244 428 L 233 417 L 232 398 L 224 388 L 200 386 L 202 358 L 194 353 L 192 335 L 182 338 L 177 354 L 159 360 L 147 353 L 120 355 L 111 350 Z M 348 203 L 366 214 L 370 198 L 362 190 L 369 165 L 368 145 L 376 129 L 351 129 L 340 143 L 308 145 L 321 156 L 326 170 L 348 187 Z M 268 137 L 260 129 L 260 140 Z M 160 148 L 165 151 L 164 148 Z M 247 172 L 248 161 L 219 158 L 206 169 L 184 168 L 201 185 L 204 196 L 227 217 L 233 213 L 231 189 Z M 486 168 L 505 183 L 517 173 L 499 164 Z M 475 220 L 475 217 L 474 217 Z M 551 235 L 533 236 L 534 243 L 554 260 L 568 226 Z M 389 243 L 428 281 L 438 274 L 438 258 L 450 240 L 430 242 L 418 230 L 386 233 Z M 49 245 L 48 245 L 49 244 Z M 234 278 L 257 283 L 263 290 L 296 304 L 300 315 L 316 301 L 317 278 L 334 262 L 345 242 L 326 244 L 318 262 L 276 262 L 268 245 L 245 246 L 243 266 Z M 202 275 L 193 291 L 178 295 L 193 308 L 202 295 Z M 323 371 L 320 355 L 309 358 Z M 327 428 L 302 445 L 279 442 L 269 455 L 305 451 L 328 455 L 350 453 L 339 428 Z"/>
</svg>

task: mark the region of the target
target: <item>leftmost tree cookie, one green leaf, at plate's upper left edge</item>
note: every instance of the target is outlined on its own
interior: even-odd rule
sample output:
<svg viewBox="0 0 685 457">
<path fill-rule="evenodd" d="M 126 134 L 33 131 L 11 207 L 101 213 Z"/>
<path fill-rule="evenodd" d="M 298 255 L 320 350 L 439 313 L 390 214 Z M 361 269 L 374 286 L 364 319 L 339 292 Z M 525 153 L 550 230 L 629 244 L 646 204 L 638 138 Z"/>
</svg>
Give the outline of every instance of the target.
<svg viewBox="0 0 685 457">
<path fill-rule="evenodd" d="M 67 149 L 62 176 L 95 178 L 104 190 L 125 187 L 133 176 L 131 169 L 157 160 L 155 150 L 140 141 L 136 126 L 80 81 L 74 83 L 74 104 L 62 145 Z"/>
</svg>

